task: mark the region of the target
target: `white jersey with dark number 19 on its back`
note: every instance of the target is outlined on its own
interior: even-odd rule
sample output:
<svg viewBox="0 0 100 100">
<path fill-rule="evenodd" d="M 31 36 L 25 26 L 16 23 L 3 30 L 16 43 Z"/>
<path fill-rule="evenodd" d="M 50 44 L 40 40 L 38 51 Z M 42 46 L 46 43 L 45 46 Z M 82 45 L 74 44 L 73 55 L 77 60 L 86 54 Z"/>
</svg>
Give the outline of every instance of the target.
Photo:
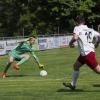
<svg viewBox="0 0 100 100">
<path fill-rule="evenodd" d="M 99 33 L 94 31 L 91 28 L 88 28 L 87 25 L 79 25 L 74 28 L 74 33 L 78 35 L 78 47 L 80 54 L 86 56 L 91 51 L 94 51 L 93 38 L 98 36 Z"/>
</svg>

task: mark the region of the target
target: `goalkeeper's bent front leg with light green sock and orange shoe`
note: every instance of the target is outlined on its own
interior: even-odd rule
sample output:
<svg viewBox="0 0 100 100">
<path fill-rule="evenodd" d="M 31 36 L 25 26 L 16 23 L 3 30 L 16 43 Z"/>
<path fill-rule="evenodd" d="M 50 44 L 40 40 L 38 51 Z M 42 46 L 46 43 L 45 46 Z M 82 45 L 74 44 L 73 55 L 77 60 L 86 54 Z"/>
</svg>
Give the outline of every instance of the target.
<svg viewBox="0 0 100 100">
<path fill-rule="evenodd" d="M 20 55 L 20 61 L 17 64 L 14 64 L 14 68 L 16 70 L 19 70 L 19 66 L 21 64 L 23 64 L 24 62 L 26 62 L 29 59 L 29 57 L 30 56 L 28 54 L 22 54 L 22 55 Z"/>
</svg>

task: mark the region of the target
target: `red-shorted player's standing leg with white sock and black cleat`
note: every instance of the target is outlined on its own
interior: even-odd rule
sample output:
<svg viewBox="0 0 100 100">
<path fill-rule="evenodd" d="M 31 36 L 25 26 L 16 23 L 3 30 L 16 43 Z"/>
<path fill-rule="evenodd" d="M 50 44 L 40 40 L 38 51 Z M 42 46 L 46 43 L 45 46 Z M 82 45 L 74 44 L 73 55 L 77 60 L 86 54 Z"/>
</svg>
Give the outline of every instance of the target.
<svg viewBox="0 0 100 100">
<path fill-rule="evenodd" d="M 76 82 L 79 76 L 79 69 L 84 64 L 82 56 L 79 56 L 79 58 L 76 60 L 76 62 L 73 65 L 74 71 L 72 72 L 72 81 L 71 83 L 63 83 L 65 87 L 69 87 L 70 89 L 74 90 L 76 87 Z"/>
</svg>

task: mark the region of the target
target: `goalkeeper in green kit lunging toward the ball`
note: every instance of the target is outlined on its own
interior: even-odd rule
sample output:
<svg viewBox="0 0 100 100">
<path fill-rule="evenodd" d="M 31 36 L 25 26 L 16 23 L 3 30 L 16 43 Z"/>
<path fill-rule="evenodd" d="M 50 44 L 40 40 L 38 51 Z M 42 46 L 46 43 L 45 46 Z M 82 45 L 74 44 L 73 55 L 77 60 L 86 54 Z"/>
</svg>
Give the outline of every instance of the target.
<svg viewBox="0 0 100 100">
<path fill-rule="evenodd" d="M 44 69 L 44 65 L 40 64 L 40 61 L 38 57 L 35 55 L 34 49 L 32 48 L 32 45 L 35 43 L 35 40 L 35 36 L 29 37 L 27 41 L 19 43 L 19 45 L 15 49 L 9 52 L 9 60 L 7 65 L 5 66 L 4 71 L 2 72 L 2 78 L 6 77 L 6 73 L 14 61 L 19 61 L 17 64 L 14 64 L 13 66 L 16 70 L 19 70 L 20 65 L 29 59 L 29 53 L 35 59 L 39 68 L 41 70 Z"/>
</svg>

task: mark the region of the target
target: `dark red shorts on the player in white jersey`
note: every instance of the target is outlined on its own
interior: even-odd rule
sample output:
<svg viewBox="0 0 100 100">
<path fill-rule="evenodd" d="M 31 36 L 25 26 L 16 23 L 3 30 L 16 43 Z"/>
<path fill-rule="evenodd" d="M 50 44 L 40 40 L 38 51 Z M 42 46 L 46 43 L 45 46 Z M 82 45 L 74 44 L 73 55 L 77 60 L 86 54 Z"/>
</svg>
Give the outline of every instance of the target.
<svg viewBox="0 0 100 100">
<path fill-rule="evenodd" d="M 98 62 L 96 60 L 96 57 L 95 57 L 95 53 L 94 52 L 90 52 L 86 56 L 80 55 L 78 57 L 78 61 L 81 64 L 87 64 L 91 69 L 95 69 L 97 67 L 97 65 L 98 65 Z"/>
</svg>

